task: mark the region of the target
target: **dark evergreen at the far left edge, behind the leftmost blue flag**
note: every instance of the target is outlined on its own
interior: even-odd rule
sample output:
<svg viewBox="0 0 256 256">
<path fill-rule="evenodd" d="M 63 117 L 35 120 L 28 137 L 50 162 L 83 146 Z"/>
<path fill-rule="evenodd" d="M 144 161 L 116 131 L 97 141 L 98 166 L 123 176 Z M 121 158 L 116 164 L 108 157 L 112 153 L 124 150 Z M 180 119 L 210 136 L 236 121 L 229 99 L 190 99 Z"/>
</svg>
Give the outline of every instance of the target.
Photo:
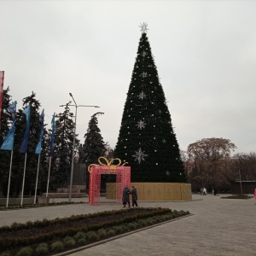
<svg viewBox="0 0 256 256">
<path fill-rule="evenodd" d="M 11 96 L 9 96 L 9 87 L 3 90 L 3 104 L 0 124 L 0 147 L 3 144 L 4 138 L 9 132 L 12 117 L 8 111 L 11 103 Z M 9 165 L 10 165 L 10 151 L 0 150 L 0 197 L 3 196 L 3 190 L 6 190 L 9 179 Z"/>
</svg>

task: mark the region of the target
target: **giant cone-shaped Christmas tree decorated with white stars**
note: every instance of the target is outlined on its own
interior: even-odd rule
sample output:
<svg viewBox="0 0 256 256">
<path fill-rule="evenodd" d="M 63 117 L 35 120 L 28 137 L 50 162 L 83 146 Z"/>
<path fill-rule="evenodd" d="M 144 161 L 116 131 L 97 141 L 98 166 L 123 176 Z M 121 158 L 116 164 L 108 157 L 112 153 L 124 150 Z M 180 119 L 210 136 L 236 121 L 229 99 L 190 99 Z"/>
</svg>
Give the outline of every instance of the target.
<svg viewBox="0 0 256 256">
<path fill-rule="evenodd" d="M 166 97 L 143 23 L 114 156 L 131 166 L 132 182 L 186 182 Z"/>
</svg>

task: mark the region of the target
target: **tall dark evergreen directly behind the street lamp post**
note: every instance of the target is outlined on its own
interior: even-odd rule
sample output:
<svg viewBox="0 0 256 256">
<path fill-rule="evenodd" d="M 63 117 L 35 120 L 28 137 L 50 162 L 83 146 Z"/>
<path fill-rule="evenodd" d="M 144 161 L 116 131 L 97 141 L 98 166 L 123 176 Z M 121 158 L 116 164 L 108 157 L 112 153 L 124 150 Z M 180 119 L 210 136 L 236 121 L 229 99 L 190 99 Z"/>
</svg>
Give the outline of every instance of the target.
<svg viewBox="0 0 256 256">
<path fill-rule="evenodd" d="M 69 184 L 68 180 L 70 179 L 73 154 L 74 125 L 73 113 L 70 112 L 69 103 L 67 103 L 64 112 L 57 114 L 55 120 L 55 143 L 52 157 L 53 168 L 50 172 L 51 181 L 49 183 L 49 187 L 52 189 L 67 187 Z M 77 134 L 76 137 L 78 137 Z M 75 148 L 79 148 L 79 140 L 77 138 Z"/>
</svg>

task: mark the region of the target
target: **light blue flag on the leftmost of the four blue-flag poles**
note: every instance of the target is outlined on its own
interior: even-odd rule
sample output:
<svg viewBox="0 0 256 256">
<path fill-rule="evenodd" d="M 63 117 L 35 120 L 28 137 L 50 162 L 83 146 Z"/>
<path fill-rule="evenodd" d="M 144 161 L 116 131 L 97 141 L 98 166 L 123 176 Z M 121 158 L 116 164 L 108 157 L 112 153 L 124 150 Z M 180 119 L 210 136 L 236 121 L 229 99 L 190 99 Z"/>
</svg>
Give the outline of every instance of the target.
<svg viewBox="0 0 256 256">
<path fill-rule="evenodd" d="M 9 113 L 12 115 L 12 119 L 13 119 L 13 123 L 12 126 L 9 129 L 9 132 L 7 134 L 7 136 L 5 137 L 4 141 L 3 141 L 3 145 L 0 149 L 3 150 L 13 150 L 14 149 L 14 142 L 15 142 L 15 113 L 16 113 L 16 105 L 17 102 L 12 102 L 9 105 Z"/>
</svg>

